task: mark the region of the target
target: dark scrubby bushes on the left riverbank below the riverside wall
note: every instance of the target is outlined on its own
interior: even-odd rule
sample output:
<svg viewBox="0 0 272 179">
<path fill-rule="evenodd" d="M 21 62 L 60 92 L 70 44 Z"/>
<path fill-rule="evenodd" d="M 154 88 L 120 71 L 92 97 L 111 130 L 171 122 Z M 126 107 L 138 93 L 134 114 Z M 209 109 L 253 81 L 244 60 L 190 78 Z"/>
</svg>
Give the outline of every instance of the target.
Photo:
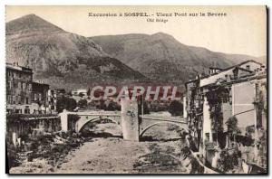
<svg viewBox="0 0 272 179">
<path fill-rule="evenodd" d="M 51 135 L 27 138 L 24 147 L 15 148 L 10 144 L 8 145 L 7 158 L 9 168 L 21 164 L 25 165 L 23 162 L 25 158 L 18 154 L 24 154 L 27 151 L 31 152 L 25 155 L 27 161 L 31 162 L 34 158 L 41 157 L 45 158 L 48 164 L 58 167 L 63 163 L 64 157 L 74 148 L 81 146 L 84 140 L 80 134 L 73 132 L 56 132 Z M 31 171 L 33 172 L 34 169 L 35 168 L 31 168 Z"/>
</svg>

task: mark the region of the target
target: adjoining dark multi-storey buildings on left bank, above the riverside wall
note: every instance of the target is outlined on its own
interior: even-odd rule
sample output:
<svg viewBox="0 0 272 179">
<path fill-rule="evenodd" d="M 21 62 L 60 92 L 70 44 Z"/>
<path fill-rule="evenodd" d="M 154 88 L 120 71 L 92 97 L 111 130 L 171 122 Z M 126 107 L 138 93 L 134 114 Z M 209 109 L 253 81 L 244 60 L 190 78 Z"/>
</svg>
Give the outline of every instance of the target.
<svg viewBox="0 0 272 179">
<path fill-rule="evenodd" d="M 51 104 L 48 100 L 49 85 L 42 81 L 34 82 L 32 69 L 19 66 L 18 63 L 6 63 L 5 79 L 7 113 L 44 114 L 53 112 L 49 108 Z"/>
</svg>

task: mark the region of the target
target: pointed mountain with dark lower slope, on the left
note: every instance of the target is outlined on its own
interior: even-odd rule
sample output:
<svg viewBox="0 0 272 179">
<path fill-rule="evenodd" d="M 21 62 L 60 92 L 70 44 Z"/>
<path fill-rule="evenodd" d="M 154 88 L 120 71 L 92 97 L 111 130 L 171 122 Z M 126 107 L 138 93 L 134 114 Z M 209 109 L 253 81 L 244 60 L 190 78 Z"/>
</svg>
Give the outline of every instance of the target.
<svg viewBox="0 0 272 179">
<path fill-rule="evenodd" d="M 34 80 L 53 88 L 87 88 L 146 79 L 110 57 L 92 39 L 65 32 L 35 14 L 6 23 L 6 61 L 34 70 Z"/>
</svg>

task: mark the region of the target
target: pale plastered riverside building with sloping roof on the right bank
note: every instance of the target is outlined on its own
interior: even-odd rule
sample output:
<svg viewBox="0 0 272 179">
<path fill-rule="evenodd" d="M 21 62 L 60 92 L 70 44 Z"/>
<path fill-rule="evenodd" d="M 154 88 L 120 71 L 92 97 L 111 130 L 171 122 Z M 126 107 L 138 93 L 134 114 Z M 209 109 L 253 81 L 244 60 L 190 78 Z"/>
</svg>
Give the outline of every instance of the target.
<svg viewBox="0 0 272 179">
<path fill-rule="evenodd" d="M 229 147 L 230 140 L 257 141 L 267 132 L 267 71 L 256 61 L 245 61 L 227 69 L 210 68 L 186 84 L 184 110 L 197 150 L 209 160 L 209 149 Z M 238 123 L 236 138 L 228 138 L 229 118 Z M 253 134 L 248 134 L 248 128 Z M 265 145 L 266 146 L 266 145 Z M 252 162 L 252 161 L 250 161 Z"/>
</svg>

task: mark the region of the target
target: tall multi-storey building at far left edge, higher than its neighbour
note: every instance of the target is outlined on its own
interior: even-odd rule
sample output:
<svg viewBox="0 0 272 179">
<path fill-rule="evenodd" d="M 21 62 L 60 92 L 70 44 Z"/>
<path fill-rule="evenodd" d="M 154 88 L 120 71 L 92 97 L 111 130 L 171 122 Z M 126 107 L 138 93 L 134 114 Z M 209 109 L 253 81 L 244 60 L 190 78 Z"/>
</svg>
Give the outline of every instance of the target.
<svg viewBox="0 0 272 179">
<path fill-rule="evenodd" d="M 30 113 L 32 103 L 32 69 L 18 63 L 6 63 L 6 112 Z"/>
</svg>

